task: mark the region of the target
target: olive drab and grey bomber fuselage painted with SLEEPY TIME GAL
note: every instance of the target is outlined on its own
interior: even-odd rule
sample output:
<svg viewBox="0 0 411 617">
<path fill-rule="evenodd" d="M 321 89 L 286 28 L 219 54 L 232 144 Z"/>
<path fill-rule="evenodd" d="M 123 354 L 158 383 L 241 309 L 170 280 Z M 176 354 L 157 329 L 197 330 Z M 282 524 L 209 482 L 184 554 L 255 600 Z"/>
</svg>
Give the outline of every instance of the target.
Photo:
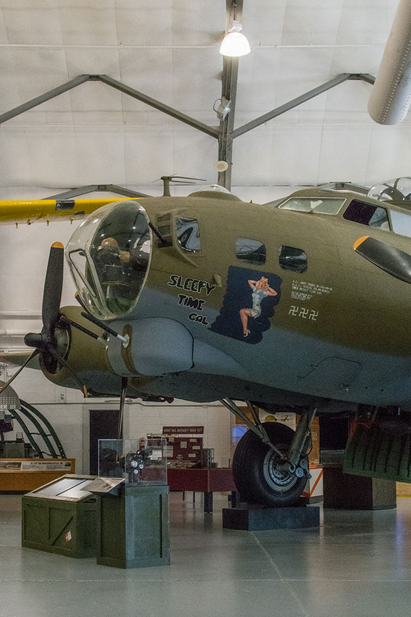
<svg viewBox="0 0 411 617">
<path fill-rule="evenodd" d="M 66 248 L 72 271 L 73 247 L 87 254 L 75 276 L 90 312 L 130 339 L 71 332 L 66 360 L 93 391 L 116 394 L 127 376 L 136 396 L 411 404 L 411 286 L 354 248 L 372 237 L 411 254 L 393 231 L 392 212 L 406 208 L 319 189 L 265 205 L 212 193 L 132 203 L 144 232 L 116 240 L 131 255 L 122 280 L 96 265 L 101 228 Z M 124 204 L 130 213 L 129 201 L 108 208 L 102 237 L 120 233 Z M 144 270 L 133 252 L 145 252 Z M 81 322 L 80 310 L 62 313 Z M 64 368 L 46 375 L 71 385 Z"/>
</svg>

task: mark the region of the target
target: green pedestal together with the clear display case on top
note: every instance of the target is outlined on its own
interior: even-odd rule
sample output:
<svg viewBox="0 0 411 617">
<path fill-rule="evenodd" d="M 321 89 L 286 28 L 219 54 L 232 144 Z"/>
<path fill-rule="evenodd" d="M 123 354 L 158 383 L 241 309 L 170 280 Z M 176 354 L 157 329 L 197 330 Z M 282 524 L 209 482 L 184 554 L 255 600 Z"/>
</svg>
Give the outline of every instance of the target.
<svg viewBox="0 0 411 617">
<path fill-rule="evenodd" d="M 97 564 L 145 568 L 170 564 L 169 487 L 163 444 L 99 441 Z"/>
</svg>

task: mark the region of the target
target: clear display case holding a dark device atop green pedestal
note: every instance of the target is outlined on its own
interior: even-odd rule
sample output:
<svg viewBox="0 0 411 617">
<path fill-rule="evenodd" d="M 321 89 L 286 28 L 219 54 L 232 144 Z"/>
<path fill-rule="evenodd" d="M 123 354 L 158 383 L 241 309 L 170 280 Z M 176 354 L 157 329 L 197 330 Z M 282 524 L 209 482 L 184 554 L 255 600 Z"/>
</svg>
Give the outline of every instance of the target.
<svg viewBox="0 0 411 617">
<path fill-rule="evenodd" d="M 99 439 L 99 476 L 130 485 L 166 485 L 166 441 L 162 438 Z"/>
</svg>

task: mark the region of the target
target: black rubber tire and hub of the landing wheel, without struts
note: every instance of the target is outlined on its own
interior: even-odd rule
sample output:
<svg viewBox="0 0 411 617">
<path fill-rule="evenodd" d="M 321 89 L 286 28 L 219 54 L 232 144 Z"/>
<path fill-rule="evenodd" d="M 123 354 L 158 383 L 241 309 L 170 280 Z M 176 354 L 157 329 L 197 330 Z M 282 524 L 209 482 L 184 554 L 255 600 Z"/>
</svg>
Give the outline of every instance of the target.
<svg viewBox="0 0 411 617">
<path fill-rule="evenodd" d="M 271 443 L 286 452 L 294 431 L 285 424 L 264 422 Z M 275 470 L 278 455 L 260 437 L 247 431 L 238 441 L 233 457 L 234 483 L 247 503 L 269 507 L 293 505 L 303 492 L 307 479 L 279 473 Z"/>
</svg>

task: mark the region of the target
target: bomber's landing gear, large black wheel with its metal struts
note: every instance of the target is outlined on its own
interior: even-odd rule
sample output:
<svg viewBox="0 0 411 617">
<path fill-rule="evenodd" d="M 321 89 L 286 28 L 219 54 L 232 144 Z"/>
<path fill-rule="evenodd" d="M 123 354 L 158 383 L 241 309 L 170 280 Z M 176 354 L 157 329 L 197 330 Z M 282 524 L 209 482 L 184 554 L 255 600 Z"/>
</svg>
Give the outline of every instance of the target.
<svg viewBox="0 0 411 617">
<path fill-rule="evenodd" d="M 292 431 L 279 422 L 260 422 L 257 409 L 246 402 L 253 422 L 230 398 L 221 400 L 250 429 L 234 452 L 233 476 L 238 492 L 247 503 L 290 506 L 310 478 L 307 452 L 316 409 L 303 412 L 296 431 Z"/>
</svg>

